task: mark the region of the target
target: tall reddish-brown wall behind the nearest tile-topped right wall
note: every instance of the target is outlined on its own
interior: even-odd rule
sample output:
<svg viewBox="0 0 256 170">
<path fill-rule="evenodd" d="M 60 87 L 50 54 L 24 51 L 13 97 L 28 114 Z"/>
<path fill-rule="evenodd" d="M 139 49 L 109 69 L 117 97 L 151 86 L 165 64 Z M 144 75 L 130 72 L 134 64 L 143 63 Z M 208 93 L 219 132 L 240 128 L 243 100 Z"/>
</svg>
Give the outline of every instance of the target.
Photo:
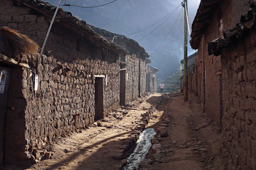
<svg viewBox="0 0 256 170">
<path fill-rule="evenodd" d="M 225 1 L 216 9 L 212 22 L 201 37 L 198 48 L 198 96 L 205 113 L 218 126 L 221 126 L 222 108 L 222 77 L 220 56 L 208 55 L 207 42 L 223 36 L 223 30 L 233 27 L 240 21 L 241 14 L 249 9 L 249 1 Z M 242 6 L 242 7 L 241 7 Z"/>
</svg>

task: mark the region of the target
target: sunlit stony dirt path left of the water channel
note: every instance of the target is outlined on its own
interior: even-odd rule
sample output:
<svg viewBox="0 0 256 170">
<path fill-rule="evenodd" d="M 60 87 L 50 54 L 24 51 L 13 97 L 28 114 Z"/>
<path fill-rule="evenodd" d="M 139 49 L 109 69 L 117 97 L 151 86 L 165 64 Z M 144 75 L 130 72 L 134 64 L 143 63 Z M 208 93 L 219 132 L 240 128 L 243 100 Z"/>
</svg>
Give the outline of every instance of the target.
<svg viewBox="0 0 256 170">
<path fill-rule="evenodd" d="M 121 107 L 123 109 L 99 120 L 99 126 L 56 139 L 52 145 L 53 156 L 42 159 L 28 170 L 121 169 L 126 164 L 126 151 L 134 145 L 139 133 L 148 123 L 149 115 L 160 101 L 159 94 L 140 98 L 131 104 L 131 109 Z"/>
</svg>

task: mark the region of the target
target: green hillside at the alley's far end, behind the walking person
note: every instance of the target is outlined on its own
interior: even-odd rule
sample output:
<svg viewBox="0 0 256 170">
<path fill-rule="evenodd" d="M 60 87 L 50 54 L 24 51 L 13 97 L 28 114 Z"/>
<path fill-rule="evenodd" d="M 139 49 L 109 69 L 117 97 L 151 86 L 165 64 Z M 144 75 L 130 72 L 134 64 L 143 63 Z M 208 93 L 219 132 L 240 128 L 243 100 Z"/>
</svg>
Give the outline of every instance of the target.
<svg viewBox="0 0 256 170">
<path fill-rule="evenodd" d="M 166 93 L 166 92 L 171 92 L 171 93 L 180 92 L 180 80 L 179 80 L 179 78 L 180 78 L 179 71 L 175 72 L 170 77 L 167 77 L 163 81 L 163 84 L 164 84 L 163 93 Z M 160 92 L 159 85 L 158 85 L 157 92 Z"/>
</svg>

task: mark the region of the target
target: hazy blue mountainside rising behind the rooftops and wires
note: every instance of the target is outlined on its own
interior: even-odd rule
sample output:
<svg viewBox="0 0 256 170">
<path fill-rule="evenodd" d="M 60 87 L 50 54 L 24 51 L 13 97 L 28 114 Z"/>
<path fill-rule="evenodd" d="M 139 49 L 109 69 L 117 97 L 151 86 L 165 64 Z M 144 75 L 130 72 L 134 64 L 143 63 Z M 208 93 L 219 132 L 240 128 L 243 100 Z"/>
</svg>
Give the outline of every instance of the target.
<svg viewBox="0 0 256 170">
<path fill-rule="evenodd" d="M 57 5 L 58 3 L 58 0 L 46 1 L 52 5 Z M 191 0 L 191 2 L 193 1 L 198 0 Z M 67 0 L 66 4 L 96 6 L 109 2 L 111 2 L 111 0 Z M 111 4 L 95 8 L 80 8 L 75 6 L 61 7 L 65 11 L 71 12 L 73 16 L 85 20 L 88 24 L 127 36 L 156 23 L 180 5 L 180 2 L 180 0 L 118 0 Z M 63 4 L 64 2 L 62 2 L 62 5 Z M 193 13 L 193 17 L 190 18 L 191 22 L 196 10 L 197 7 L 191 12 Z M 181 6 L 179 6 L 173 15 L 170 16 L 158 29 L 140 41 L 138 40 L 157 28 L 167 17 L 142 32 L 128 36 L 129 38 L 138 41 L 140 46 L 144 47 L 149 55 L 151 55 L 150 59 L 152 63 L 150 65 L 159 68 L 157 78 L 160 81 L 175 73 L 179 68 L 181 31 L 183 32 L 183 29 L 181 29 L 182 14 L 180 12 Z M 178 16 L 179 18 L 177 19 Z M 173 26 L 176 19 L 177 21 Z M 173 29 L 165 42 L 159 50 L 154 53 L 172 27 Z M 192 50 L 189 49 L 188 54 L 191 53 Z"/>
</svg>

